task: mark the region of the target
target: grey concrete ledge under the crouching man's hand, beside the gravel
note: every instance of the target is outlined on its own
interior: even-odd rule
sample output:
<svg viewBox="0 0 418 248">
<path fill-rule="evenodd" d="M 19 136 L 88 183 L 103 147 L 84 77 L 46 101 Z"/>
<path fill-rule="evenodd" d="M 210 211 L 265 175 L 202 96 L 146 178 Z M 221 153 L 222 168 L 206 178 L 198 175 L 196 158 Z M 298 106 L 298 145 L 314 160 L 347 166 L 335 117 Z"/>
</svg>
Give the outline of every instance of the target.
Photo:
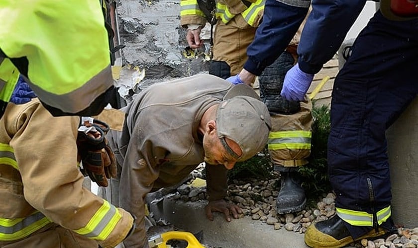
<svg viewBox="0 0 418 248">
<path fill-rule="evenodd" d="M 205 215 L 206 202 L 183 202 L 165 198 L 150 206 L 155 219 L 163 218 L 176 227 L 197 233 L 203 231 L 202 244 L 221 248 L 308 248 L 304 235 L 284 228 L 274 230 L 261 221 L 245 216 L 226 222 L 223 214 L 214 214 L 209 221 Z"/>
</svg>

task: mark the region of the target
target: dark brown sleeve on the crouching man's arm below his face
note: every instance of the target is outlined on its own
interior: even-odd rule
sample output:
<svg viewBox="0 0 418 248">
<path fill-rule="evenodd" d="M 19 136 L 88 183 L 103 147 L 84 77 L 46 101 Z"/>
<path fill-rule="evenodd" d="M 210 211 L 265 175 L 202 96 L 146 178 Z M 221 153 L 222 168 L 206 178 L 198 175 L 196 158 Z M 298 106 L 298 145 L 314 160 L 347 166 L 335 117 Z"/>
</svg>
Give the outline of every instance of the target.
<svg viewBox="0 0 418 248">
<path fill-rule="evenodd" d="M 206 165 L 206 182 L 209 201 L 220 200 L 226 196 L 228 190 L 227 173 L 223 165 Z"/>
</svg>

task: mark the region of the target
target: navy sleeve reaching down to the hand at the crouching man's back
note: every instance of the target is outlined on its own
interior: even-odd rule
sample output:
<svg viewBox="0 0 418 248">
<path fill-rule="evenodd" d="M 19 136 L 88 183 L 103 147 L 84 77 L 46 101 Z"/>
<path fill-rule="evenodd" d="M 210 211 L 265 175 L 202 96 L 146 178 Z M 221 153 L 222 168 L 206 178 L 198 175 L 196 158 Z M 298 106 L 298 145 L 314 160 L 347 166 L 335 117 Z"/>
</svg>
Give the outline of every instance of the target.
<svg viewBox="0 0 418 248">
<path fill-rule="evenodd" d="M 292 1 L 292 0 L 288 0 Z M 244 69 L 260 75 L 286 49 L 304 20 L 310 0 L 297 1 L 300 6 L 278 0 L 266 0 L 263 22 L 257 28 L 254 41 L 247 48 Z"/>
</svg>

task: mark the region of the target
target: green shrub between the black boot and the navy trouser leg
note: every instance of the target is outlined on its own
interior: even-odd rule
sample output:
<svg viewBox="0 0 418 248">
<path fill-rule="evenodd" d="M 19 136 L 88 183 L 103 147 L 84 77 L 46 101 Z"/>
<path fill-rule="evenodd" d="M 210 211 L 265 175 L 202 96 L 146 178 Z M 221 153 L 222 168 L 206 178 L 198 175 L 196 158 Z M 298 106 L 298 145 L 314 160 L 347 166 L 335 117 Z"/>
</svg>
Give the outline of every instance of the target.
<svg viewBox="0 0 418 248">
<path fill-rule="evenodd" d="M 302 186 L 308 199 L 316 200 L 319 196 L 331 190 L 328 180 L 327 141 L 331 128 L 328 106 L 322 105 L 312 110 L 312 146 L 309 164 L 299 168 Z"/>
</svg>

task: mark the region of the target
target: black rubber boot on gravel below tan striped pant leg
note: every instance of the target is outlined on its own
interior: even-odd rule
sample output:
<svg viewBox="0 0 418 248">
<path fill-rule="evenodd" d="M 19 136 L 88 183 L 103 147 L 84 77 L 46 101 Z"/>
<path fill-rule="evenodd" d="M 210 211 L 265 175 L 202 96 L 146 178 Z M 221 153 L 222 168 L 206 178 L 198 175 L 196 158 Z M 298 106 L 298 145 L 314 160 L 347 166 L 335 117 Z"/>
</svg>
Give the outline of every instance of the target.
<svg viewBox="0 0 418 248">
<path fill-rule="evenodd" d="M 276 200 L 278 214 L 301 211 L 306 205 L 305 190 L 297 179 L 297 172 L 280 172 L 281 187 Z"/>
</svg>

